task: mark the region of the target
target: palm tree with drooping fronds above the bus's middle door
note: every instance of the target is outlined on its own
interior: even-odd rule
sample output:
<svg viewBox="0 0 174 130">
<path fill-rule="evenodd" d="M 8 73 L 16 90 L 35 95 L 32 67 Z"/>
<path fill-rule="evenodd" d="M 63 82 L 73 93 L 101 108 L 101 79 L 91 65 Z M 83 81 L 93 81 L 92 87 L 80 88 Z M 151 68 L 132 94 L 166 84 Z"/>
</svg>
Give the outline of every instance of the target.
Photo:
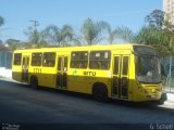
<svg viewBox="0 0 174 130">
<path fill-rule="evenodd" d="M 62 28 L 55 25 L 49 25 L 42 31 L 45 39 L 58 47 L 67 46 L 69 41 L 73 39 L 74 31 L 70 25 L 64 25 Z"/>
</svg>

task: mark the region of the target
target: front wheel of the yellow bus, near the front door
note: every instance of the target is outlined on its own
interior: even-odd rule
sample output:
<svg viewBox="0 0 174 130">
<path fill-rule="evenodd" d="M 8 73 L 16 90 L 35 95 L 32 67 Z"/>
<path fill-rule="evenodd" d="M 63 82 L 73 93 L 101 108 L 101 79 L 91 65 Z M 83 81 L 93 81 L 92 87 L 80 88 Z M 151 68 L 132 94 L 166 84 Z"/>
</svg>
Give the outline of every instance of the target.
<svg viewBox="0 0 174 130">
<path fill-rule="evenodd" d="M 103 83 L 95 83 L 92 88 L 92 96 L 99 102 L 108 101 L 108 89 Z"/>
</svg>

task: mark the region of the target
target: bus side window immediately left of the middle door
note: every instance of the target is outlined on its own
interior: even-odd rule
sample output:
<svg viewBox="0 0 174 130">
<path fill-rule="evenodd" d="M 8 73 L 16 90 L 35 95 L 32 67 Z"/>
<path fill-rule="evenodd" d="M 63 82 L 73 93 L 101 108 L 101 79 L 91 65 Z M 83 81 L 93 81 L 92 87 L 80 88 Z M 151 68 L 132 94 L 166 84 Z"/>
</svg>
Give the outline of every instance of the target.
<svg viewBox="0 0 174 130">
<path fill-rule="evenodd" d="M 53 67 L 55 65 L 55 52 L 45 52 L 42 66 Z"/>
</svg>

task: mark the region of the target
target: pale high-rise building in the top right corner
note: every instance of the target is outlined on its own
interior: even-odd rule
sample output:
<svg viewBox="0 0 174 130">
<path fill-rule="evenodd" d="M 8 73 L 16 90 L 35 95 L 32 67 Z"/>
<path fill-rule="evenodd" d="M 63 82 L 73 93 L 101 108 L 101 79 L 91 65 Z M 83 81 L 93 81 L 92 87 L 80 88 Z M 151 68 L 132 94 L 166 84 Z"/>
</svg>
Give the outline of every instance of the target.
<svg viewBox="0 0 174 130">
<path fill-rule="evenodd" d="M 174 25 L 174 0 L 163 0 L 163 11 L 167 18 Z"/>
</svg>

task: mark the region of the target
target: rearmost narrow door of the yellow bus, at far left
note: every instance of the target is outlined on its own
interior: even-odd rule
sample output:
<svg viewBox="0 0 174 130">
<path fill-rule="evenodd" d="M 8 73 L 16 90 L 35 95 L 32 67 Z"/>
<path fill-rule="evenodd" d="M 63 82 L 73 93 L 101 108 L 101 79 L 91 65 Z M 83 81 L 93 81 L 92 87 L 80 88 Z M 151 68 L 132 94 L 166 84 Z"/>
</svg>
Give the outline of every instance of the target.
<svg viewBox="0 0 174 130">
<path fill-rule="evenodd" d="M 28 65 L 29 65 L 29 56 L 23 56 L 22 62 L 22 81 L 28 81 Z"/>
</svg>

